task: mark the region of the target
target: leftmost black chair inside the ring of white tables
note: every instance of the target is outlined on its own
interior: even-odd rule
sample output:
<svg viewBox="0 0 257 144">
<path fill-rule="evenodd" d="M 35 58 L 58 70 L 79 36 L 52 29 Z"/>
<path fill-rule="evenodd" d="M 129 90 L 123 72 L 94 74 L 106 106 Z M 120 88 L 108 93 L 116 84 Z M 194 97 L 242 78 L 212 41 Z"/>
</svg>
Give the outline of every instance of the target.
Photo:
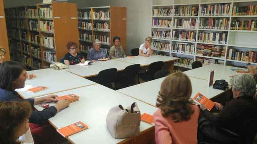
<svg viewBox="0 0 257 144">
<path fill-rule="evenodd" d="M 108 88 L 112 88 L 115 90 L 115 82 L 117 79 L 117 68 L 110 68 L 106 70 L 102 70 L 98 73 L 97 82 L 103 86 Z M 112 86 L 114 83 L 114 87 Z"/>
</svg>

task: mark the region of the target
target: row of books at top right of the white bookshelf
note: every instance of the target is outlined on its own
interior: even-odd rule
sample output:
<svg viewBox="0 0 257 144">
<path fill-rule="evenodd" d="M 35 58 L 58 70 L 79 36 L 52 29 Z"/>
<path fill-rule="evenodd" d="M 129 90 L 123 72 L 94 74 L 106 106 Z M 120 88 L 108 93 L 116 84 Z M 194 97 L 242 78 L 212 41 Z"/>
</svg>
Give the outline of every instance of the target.
<svg viewBox="0 0 257 144">
<path fill-rule="evenodd" d="M 257 15 L 257 5 L 234 6 L 232 15 Z"/>
</svg>

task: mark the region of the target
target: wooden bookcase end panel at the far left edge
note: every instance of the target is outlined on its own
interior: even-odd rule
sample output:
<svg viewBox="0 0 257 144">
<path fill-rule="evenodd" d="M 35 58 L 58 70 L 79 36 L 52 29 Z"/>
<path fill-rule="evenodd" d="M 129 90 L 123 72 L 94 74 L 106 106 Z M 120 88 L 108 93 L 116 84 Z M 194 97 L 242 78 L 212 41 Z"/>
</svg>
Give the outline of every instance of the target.
<svg viewBox="0 0 257 144">
<path fill-rule="evenodd" d="M 8 46 L 8 36 L 6 27 L 6 15 L 8 14 L 5 14 L 4 1 L 0 0 L 0 46 L 6 49 L 5 61 L 10 61 L 10 52 Z"/>
</svg>

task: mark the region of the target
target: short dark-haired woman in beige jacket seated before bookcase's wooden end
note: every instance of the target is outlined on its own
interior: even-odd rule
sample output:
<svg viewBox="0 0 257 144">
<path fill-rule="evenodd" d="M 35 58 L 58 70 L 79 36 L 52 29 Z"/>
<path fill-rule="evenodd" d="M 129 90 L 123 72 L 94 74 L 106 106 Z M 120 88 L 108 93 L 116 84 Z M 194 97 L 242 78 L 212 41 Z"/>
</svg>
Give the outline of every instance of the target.
<svg viewBox="0 0 257 144">
<path fill-rule="evenodd" d="M 113 37 L 113 42 L 114 45 L 110 49 L 110 58 L 115 59 L 115 58 L 125 58 L 126 54 L 123 50 L 123 48 L 120 45 L 120 37 L 114 36 Z"/>
</svg>

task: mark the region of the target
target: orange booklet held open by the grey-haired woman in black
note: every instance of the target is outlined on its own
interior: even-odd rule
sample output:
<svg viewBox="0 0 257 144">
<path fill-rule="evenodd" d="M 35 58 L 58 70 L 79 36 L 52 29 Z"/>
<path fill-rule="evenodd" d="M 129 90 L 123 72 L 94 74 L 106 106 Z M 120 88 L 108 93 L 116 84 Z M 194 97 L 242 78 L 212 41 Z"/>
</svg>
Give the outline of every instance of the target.
<svg viewBox="0 0 257 144">
<path fill-rule="evenodd" d="M 204 105 L 209 111 L 211 111 L 211 109 L 215 105 L 214 102 L 212 102 L 210 99 L 208 99 L 206 96 L 202 95 L 201 93 L 197 93 L 193 99 L 197 103 Z"/>
</svg>

